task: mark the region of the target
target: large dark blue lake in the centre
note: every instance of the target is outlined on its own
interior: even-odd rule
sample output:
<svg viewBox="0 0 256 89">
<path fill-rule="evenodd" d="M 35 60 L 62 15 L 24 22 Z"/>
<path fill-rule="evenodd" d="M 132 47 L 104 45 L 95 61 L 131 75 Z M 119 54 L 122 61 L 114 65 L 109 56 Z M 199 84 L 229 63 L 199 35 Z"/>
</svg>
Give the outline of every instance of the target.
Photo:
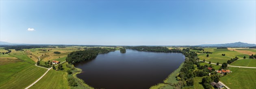
<svg viewBox="0 0 256 89">
<path fill-rule="evenodd" d="M 127 49 L 99 54 L 95 59 L 75 64 L 77 74 L 91 87 L 100 89 L 148 89 L 163 83 L 184 61 L 182 53 L 143 52 Z"/>
</svg>

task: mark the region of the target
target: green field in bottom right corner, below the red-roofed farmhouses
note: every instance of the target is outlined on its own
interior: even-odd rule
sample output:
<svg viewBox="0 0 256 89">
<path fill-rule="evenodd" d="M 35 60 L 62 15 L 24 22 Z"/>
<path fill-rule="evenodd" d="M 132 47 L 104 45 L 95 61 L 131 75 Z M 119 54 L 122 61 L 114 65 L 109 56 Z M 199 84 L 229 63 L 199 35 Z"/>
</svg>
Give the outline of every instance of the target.
<svg viewBox="0 0 256 89">
<path fill-rule="evenodd" d="M 231 73 L 220 78 L 221 82 L 231 89 L 255 89 L 256 69 L 230 67 L 230 70 Z"/>
</svg>

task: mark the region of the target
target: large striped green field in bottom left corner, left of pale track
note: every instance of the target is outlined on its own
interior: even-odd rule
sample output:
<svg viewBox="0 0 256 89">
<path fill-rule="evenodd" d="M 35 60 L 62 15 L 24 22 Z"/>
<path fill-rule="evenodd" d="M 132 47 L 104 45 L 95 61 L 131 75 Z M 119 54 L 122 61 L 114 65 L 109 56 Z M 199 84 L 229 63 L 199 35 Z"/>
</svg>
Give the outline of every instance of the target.
<svg viewBox="0 0 256 89">
<path fill-rule="evenodd" d="M 28 62 L 0 66 L 0 89 L 24 89 L 42 76 L 47 69 Z"/>
</svg>

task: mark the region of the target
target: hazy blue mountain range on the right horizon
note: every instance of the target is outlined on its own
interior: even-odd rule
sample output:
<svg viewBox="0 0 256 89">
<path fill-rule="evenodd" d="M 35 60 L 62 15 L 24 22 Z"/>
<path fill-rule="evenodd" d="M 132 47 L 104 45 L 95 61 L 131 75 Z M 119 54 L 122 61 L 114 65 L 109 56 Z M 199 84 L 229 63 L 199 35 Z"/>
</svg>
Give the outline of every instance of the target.
<svg viewBox="0 0 256 89">
<path fill-rule="evenodd" d="M 248 44 L 244 42 L 234 42 L 227 44 L 202 44 L 200 47 L 255 47 L 256 44 Z"/>
</svg>

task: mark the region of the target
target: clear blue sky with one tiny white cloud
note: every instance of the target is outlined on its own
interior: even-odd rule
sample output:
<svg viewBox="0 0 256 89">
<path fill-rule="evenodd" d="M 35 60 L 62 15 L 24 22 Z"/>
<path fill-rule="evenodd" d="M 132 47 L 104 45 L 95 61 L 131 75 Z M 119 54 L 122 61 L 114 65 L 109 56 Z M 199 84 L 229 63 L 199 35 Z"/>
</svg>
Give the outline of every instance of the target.
<svg viewBox="0 0 256 89">
<path fill-rule="evenodd" d="M 5 42 L 98 45 L 256 43 L 255 0 L 0 2 L 0 40 Z"/>
</svg>

